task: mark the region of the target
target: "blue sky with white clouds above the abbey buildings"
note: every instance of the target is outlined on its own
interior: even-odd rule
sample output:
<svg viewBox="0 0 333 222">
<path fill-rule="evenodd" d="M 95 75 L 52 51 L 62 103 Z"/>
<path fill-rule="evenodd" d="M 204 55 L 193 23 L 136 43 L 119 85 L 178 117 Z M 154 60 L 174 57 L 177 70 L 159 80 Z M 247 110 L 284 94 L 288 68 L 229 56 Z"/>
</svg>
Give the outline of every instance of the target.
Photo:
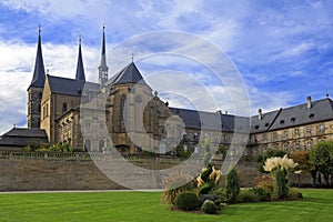
<svg viewBox="0 0 333 222">
<path fill-rule="evenodd" d="M 50 74 L 74 78 L 82 36 L 95 81 L 104 23 L 110 75 L 133 52 L 171 105 L 239 113 L 249 98 L 254 114 L 333 94 L 332 18 L 329 0 L 2 0 L 0 134 L 27 125 L 39 24 Z"/>
</svg>

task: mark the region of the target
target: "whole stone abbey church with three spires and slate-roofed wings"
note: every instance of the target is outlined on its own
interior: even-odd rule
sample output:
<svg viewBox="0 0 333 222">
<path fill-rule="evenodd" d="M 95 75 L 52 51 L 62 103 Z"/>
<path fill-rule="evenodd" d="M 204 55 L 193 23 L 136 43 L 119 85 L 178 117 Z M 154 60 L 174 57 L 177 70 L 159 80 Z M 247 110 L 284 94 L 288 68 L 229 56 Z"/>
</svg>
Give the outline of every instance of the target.
<svg viewBox="0 0 333 222">
<path fill-rule="evenodd" d="M 256 154 L 276 148 L 307 150 L 317 141 L 333 139 L 333 102 L 329 97 L 319 101 L 309 97 L 303 104 L 266 113 L 260 109 L 250 118 L 170 108 L 152 91 L 134 62 L 109 78 L 104 28 L 98 71 L 98 83 L 85 81 L 80 40 L 75 79 L 46 74 L 39 31 L 28 88 L 28 129 L 4 133 L 0 149 L 22 149 L 30 137 L 69 143 L 77 151 L 200 153 L 203 139 L 209 138 L 213 147 L 245 144 L 245 154 Z M 14 142 L 18 134 L 20 142 Z"/>
</svg>

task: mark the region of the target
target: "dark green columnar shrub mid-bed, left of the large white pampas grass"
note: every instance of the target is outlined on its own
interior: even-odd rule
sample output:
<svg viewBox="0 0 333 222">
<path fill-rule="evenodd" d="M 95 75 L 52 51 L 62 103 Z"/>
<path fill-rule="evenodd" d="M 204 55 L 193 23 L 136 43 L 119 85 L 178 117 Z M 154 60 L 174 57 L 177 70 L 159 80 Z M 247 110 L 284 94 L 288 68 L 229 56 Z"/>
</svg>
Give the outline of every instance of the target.
<svg viewBox="0 0 333 222">
<path fill-rule="evenodd" d="M 225 193 L 231 202 L 236 201 L 236 196 L 240 194 L 240 179 L 236 170 L 233 168 L 225 178 Z"/>
</svg>

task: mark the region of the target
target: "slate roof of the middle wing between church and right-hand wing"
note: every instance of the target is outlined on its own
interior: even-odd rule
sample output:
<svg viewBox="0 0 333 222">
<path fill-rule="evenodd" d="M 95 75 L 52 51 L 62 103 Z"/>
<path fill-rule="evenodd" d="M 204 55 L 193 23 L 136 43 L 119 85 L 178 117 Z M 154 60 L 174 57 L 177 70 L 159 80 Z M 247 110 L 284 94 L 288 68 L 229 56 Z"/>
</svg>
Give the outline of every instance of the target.
<svg viewBox="0 0 333 222">
<path fill-rule="evenodd" d="M 180 108 L 170 108 L 170 111 L 173 114 L 179 115 L 183 120 L 186 128 L 243 133 L 249 133 L 250 131 L 249 118 L 222 114 L 220 112 L 204 112 Z"/>
</svg>

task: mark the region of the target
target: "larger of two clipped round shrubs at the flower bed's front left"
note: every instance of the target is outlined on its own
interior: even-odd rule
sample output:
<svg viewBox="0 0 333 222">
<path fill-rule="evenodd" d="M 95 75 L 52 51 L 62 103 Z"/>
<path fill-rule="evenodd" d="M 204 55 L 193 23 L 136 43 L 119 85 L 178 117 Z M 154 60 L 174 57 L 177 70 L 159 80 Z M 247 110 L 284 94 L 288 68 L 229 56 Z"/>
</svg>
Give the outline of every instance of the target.
<svg viewBox="0 0 333 222">
<path fill-rule="evenodd" d="M 179 210 L 193 211 L 199 204 L 199 199 L 194 192 L 185 191 L 176 195 L 174 204 Z"/>
</svg>

